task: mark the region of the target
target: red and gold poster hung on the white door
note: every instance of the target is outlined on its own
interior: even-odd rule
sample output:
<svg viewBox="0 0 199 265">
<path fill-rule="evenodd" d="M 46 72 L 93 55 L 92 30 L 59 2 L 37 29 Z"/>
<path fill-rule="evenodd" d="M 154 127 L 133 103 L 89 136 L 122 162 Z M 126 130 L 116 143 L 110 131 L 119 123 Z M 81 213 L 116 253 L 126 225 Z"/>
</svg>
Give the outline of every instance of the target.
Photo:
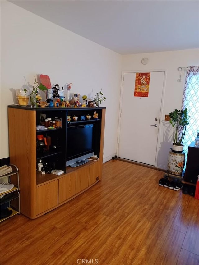
<svg viewBox="0 0 199 265">
<path fill-rule="evenodd" d="M 136 73 L 134 97 L 149 96 L 150 73 Z"/>
</svg>

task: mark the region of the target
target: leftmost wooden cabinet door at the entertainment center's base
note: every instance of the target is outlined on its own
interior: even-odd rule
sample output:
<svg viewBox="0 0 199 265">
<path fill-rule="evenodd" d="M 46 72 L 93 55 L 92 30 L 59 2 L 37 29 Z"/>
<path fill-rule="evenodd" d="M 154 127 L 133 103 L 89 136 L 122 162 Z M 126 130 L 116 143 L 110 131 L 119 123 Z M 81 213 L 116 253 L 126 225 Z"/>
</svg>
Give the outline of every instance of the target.
<svg viewBox="0 0 199 265">
<path fill-rule="evenodd" d="M 58 205 L 58 180 L 36 189 L 36 215 Z"/>
</svg>

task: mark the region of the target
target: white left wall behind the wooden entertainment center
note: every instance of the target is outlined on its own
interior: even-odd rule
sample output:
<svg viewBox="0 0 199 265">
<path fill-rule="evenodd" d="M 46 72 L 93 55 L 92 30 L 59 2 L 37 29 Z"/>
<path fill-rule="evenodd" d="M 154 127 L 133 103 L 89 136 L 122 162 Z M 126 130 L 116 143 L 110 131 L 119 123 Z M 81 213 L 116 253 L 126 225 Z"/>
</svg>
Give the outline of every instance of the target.
<svg viewBox="0 0 199 265">
<path fill-rule="evenodd" d="M 92 96 L 102 89 L 107 100 L 104 161 L 116 153 L 122 56 L 1 1 L 1 158 L 9 156 L 7 105 L 15 90 L 40 74 L 51 84 L 73 83 L 71 93 Z M 14 96 L 13 96 L 14 94 Z M 23 135 L 21 135 L 23 136 Z"/>
</svg>

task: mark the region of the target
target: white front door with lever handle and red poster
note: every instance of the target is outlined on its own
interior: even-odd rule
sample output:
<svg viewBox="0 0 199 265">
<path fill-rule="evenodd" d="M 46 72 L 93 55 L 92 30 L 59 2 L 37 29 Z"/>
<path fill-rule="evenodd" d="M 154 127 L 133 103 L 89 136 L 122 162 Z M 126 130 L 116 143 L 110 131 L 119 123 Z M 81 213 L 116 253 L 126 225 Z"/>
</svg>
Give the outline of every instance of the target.
<svg viewBox="0 0 199 265">
<path fill-rule="evenodd" d="M 148 96 L 141 92 L 135 94 L 141 96 L 134 96 L 135 82 L 141 75 L 123 75 L 118 157 L 155 166 L 164 71 L 150 72 Z"/>
</svg>

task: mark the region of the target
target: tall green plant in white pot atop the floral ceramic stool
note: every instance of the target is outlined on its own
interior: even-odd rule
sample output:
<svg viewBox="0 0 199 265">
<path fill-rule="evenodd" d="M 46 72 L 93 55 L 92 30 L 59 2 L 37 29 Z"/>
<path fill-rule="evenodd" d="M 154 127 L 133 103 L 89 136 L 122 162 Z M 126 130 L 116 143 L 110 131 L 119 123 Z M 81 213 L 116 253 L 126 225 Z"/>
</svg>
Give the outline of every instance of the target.
<svg viewBox="0 0 199 265">
<path fill-rule="evenodd" d="M 183 151 L 183 140 L 188 122 L 187 108 L 184 110 L 175 109 L 169 113 L 169 122 L 173 128 L 173 145 L 172 150 L 181 152 Z"/>
</svg>

